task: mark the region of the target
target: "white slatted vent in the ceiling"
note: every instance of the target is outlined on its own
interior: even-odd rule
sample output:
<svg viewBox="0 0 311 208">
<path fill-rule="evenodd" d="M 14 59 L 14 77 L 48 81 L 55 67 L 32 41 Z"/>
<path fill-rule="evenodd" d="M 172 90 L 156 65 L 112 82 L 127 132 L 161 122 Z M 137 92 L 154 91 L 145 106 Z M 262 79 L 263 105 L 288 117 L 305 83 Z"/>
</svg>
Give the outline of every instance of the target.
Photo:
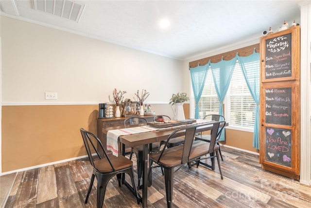
<svg viewBox="0 0 311 208">
<path fill-rule="evenodd" d="M 79 22 L 84 4 L 72 0 L 33 0 L 34 9 Z"/>
</svg>

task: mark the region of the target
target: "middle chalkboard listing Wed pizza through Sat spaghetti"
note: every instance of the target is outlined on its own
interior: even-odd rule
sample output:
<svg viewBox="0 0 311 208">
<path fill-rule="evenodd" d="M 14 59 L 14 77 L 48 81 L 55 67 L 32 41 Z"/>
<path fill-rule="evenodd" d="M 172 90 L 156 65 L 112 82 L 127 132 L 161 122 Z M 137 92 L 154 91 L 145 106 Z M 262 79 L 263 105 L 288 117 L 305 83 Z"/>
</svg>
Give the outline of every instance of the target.
<svg viewBox="0 0 311 208">
<path fill-rule="evenodd" d="M 265 123 L 292 126 L 292 88 L 265 89 Z"/>
</svg>

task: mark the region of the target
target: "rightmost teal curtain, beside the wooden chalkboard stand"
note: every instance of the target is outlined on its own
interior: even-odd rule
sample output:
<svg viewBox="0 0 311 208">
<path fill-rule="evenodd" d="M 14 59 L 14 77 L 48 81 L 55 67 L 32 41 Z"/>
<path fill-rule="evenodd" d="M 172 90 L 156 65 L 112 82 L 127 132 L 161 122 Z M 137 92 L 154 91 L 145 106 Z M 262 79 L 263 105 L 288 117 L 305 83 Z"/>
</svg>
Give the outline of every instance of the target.
<svg viewBox="0 0 311 208">
<path fill-rule="evenodd" d="M 254 53 L 248 57 L 237 57 L 249 92 L 256 103 L 253 147 L 259 150 L 259 53 L 254 49 Z"/>
</svg>

